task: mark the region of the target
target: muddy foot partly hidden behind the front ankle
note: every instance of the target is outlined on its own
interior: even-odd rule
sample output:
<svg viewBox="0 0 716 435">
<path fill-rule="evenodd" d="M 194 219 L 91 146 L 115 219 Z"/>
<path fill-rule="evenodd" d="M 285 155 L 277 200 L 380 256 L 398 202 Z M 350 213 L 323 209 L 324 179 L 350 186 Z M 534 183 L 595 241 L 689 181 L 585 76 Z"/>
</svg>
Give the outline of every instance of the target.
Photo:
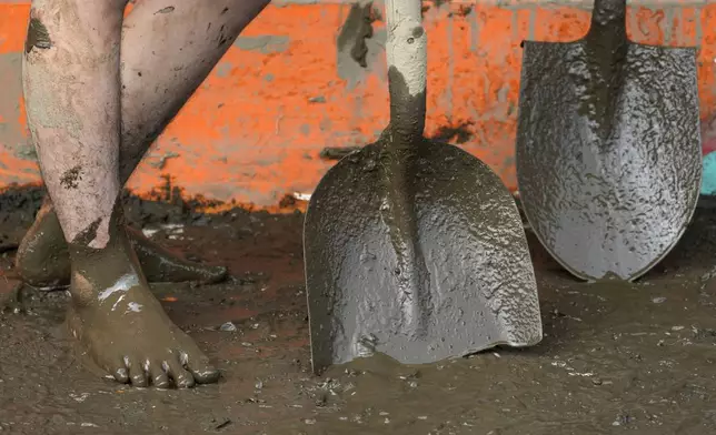
<svg viewBox="0 0 716 435">
<path fill-rule="evenodd" d="M 190 262 L 128 227 L 129 240 L 149 282 L 213 284 L 227 277 L 223 266 Z M 38 212 L 16 256 L 16 270 L 24 283 L 38 289 L 70 284 L 70 259 L 57 214 L 49 201 Z"/>
</svg>

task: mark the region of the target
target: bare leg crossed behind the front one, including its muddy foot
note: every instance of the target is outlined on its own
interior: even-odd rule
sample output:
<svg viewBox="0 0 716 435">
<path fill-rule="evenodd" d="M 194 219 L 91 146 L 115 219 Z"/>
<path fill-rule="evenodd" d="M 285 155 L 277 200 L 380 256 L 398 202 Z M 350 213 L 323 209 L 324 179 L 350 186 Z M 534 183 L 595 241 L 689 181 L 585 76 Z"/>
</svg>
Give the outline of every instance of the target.
<svg viewBox="0 0 716 435">
<path fill-rule="evenodd" d="M 140 1 L 123 22 L 121 42 L 123 184 L 155 139 L 269 0 Z M 181 259 L 128 227 L 129 240 L 150 282 L 217 282 L 225 267 Z M 49 198 L 22 240 L 16 266 L 36 287 L 70 282 L 70 259 Z"/>
</svg>

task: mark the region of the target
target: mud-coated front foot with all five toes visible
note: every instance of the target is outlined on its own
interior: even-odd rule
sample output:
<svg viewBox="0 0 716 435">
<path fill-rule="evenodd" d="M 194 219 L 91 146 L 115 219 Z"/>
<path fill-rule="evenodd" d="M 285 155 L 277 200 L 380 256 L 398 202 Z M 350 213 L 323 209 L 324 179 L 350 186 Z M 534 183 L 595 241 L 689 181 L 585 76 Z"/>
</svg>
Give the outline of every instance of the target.
<svg viewBox="0 0 716 435">
<path fill-rule="evenodd" d="M 69 246 L 72 335 L 121 383 L 165 388 L 217 382 L 219 372 L 151 294 L 123 226 L 113 232 L 103 249 Z"/>
</svg>

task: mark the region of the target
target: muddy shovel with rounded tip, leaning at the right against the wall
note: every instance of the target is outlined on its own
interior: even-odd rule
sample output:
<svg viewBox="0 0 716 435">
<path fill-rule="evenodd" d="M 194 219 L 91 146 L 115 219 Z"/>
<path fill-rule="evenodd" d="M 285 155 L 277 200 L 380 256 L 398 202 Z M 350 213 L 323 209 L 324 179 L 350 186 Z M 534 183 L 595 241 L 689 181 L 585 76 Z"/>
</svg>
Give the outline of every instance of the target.
<svg viewBox="0 0 716 435">
<path fill-rule="evenodd" d="M 626 0 L 596 0 L 578 41 L 523 48 L 516 164 L 529 224 L 577 277 L 636 280 L 696 208 L 696 50 L 630 42 Z"/>
</svg>

